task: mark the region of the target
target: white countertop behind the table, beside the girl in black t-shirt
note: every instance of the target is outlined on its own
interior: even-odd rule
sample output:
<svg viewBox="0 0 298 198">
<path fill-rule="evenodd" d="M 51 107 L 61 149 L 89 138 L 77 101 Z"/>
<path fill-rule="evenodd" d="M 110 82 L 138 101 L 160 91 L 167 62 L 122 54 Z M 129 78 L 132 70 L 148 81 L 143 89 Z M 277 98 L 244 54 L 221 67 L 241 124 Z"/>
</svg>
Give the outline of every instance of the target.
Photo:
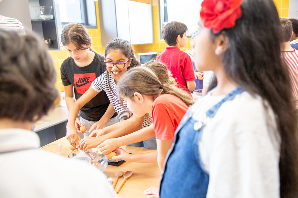
<svg viewBox="0 0 298 198">
<path fill-rule="evenodd" d="M 69 111 L 67 107 L 61 107 L 60 105 L 53 107 L 53 109 L 49 110 L 47 115 L 44 115 L 35 123 L 34 132 L 39 132 L 51 126 L 55 126 L 67 121 L 68 112 Z"/>
</svg>

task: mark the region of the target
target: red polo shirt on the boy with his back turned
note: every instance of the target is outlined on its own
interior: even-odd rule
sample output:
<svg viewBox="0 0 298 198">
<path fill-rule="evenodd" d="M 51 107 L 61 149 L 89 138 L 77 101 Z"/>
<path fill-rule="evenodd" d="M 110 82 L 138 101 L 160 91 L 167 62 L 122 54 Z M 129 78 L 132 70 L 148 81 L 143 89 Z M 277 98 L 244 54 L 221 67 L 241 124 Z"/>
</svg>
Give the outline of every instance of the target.
<svg viewBox="0 0 298 198">
<path fill-rule="evenodd" d="M 187 53 L 182 52 L 178 47 L 166 47 L 166 50 L 160 53 L 156 60 L 165 64 L 173 77 L 177 79 L 177 83 L 190 93 L 186 82 L 195 80 L 195 72 Z"/>
</svg>

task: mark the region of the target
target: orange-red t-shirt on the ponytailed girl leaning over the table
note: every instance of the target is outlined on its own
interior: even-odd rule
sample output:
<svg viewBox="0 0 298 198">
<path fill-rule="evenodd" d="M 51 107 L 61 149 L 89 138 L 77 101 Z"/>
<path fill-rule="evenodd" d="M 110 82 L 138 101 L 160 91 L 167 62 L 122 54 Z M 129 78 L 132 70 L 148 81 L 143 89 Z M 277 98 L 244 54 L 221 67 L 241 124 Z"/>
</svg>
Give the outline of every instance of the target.
<svg viewBox="0 0 298 198">
<path fill-rule="evenodd" d="M 170 94 L 159 95 L 152 105 L 152 123 L 156 139 L 173 140 L 187 109 L 187 105 L 178 97 Z"/>
</svg>

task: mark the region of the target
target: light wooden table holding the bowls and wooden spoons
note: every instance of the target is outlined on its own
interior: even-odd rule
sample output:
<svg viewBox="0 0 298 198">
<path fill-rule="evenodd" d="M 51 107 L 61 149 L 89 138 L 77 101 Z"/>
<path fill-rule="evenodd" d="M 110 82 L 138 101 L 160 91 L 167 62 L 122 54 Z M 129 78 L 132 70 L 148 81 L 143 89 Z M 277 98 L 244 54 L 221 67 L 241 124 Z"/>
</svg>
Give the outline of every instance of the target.
<svg viewBox="0 0 298 198">
<path fill-rule="evenodd" d="M 62 145 L 61 156 L 68 157 L 69 153 L 72 152 L 70 150 L 69 141 L 66 137 L 63 137 L 55 142 L 50 144 L 60 144 Z M 143 147 L 135 147 L 135 146 L 122 146 L 125 151 L 132 154 L 138 153 L 147 153 L 150 151 L 154 151 L 153 149 L 143 148 Z M 129 171 L 133 172 L 131 178 L 126 180 L 122 189 L 119 191 L 118 196 L 120 198 L 129 197 L 129 198 L 139 198 L 146 197 L 144 195 L 144 190 L 150 188 L 150 186 L 159 186 L 159 179 L 161 176 L 161 172 L 157 163 L 137 163 L 137 162 L 124 162 L 123 164 L 117 166 L 108 165 L 107 168 L 103 171 L 103 173 L 108 175 L 108 178 L 113 178 L 113 184 L 116 180 L 115 173 L 117 171 Z M 123 177 L 119 178 L 117 185 L 115 187 L 115 191 L 121 185 L 123 181 Z"/>
</svg>

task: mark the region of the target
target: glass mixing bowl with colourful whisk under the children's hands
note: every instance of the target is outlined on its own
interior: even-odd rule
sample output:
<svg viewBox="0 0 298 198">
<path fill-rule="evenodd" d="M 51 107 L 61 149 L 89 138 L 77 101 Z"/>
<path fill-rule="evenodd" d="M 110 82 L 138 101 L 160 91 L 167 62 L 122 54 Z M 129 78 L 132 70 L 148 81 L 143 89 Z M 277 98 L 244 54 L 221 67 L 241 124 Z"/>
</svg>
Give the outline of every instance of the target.
<svg viewBox="0 0 298 198">
<path fill-rule="evenodd" d="M 72 151 L 71 153 L 69 153 L 68 158 L 92 164 L 95 167 L 97 167 L 101 172 L 103 172 L 105 168 L 108 166 L 109 161 L 106 155 L 98 152 L 93 152 L 91 149 L 88 149 L 87 151 L 96 153 L 96 158 L 91 160 L 88 154 L 86 152 L 83 153 L 82 151 Z"/>
</svg>

